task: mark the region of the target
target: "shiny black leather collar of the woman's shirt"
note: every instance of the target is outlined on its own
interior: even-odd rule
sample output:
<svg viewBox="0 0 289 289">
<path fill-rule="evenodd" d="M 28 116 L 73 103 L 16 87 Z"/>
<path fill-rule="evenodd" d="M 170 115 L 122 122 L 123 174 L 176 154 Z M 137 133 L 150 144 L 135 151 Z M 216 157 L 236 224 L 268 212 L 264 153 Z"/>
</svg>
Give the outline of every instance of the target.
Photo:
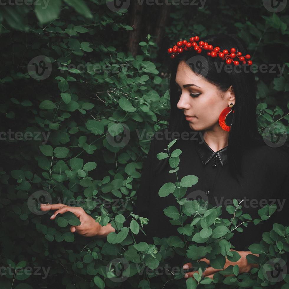
<svg viewBox="0 0 289 289">
<path fill-rule="evenodd" d="M 228 146 L 218 150 L 217 152 L 214 152 L 204 139 L 198 137 L 198 142 L 196 142 L 196 150 L 203 165 L 206 165 L 212 157 L 214 157 L 216 160 L 219 158 L 221 165 L 224 165 L 228 162 Z"/>
</svg>

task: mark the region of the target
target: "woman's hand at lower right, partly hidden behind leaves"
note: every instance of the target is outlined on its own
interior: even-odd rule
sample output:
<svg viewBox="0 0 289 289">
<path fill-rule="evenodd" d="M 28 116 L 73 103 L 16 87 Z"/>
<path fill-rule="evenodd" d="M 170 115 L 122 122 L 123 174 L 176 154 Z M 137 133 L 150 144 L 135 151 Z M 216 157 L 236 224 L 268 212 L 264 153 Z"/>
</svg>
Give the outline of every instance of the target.
<svg viewBox="0 0 289 289">
<path fill-rule="evenodd" d="M 231 249 L 230 251 L 236 251 Z M 226 269 L 227 267 L 229 267 L 230 265 L 238 265 L 239 266 L 239 273 L 244 273 L 244 272 L 250 272 L 250 270 L 253 267 L 258 267 L 258 264 L 254 264 L 254 263 L 248 263 L 248 260 L 246 259 L 246 256 L 248 254 L 252 254 L 250 251 L 236 251 L 240 254 L 241 258 L 237 261 L 237 262 L 231 262 L 228 259 L 226 259 L 226 263 L 224 265 L 223 269 L 215 269 L 213 267 L 210 266 L 210 260 L 203 258 L 200 261 L 204 261 L 208 264 L 208 267 L 205 269 L 205 271 L 203 272 L 203 277 L 209 277 L 211 279 L 214 278 L 214 274 L 216 272 L 219 272 L 221 270 Z M 259 257 L 259 254 L 253 254 L 257 257 Z M 183 269 L 191 269 L 192 268 L 192 264 L 191 263 L 186 263 L 185 265 L 183 265 Z M 185 273 L 184 278 L 190 278 L 193 277 L 193 274 L 196 273 L 198 271 L 192 271 L 192 272 L 187 272 Z M 234 276 L 234 274 L 232 275 L 226 275 L 226 276 Z M 225 277 L 226 277 L 225 276 Z"/>
</svg>

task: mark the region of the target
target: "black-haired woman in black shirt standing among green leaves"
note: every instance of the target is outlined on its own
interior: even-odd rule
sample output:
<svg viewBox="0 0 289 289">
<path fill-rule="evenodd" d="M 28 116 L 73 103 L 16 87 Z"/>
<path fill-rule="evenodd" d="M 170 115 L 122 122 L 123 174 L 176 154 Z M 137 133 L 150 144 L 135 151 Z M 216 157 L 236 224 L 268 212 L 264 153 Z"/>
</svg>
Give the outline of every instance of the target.
<svg viewBox="0 0 289 289">
<path fill-rule="evenodd" d="M 243 43 L 234 35 L 214 35 L 202 40 L 220 47 L 221 51 L 235 47 L 242 55 L 246 52 Z M 169 127 L 155 133 L 142 169 L 134 214 L 147 217 L 149 223 L 144 226 L 147 236 L 139 233 L 136 236 L 137 242 L 153 244 L 153 237 L 180 236 L 176 226 L 170 223 L 170 218 L 163 212 L 166 207 L 176 205 L 175 197 L 172 194 L 165 198 L 158 196 L 164 183 L 176 181 L 175 175 L 168 173 L 171 168 L 167 159 L 160 161 L 156 157 L 174 138 L 178 140 L 171 149 L 182 150 L 180 169 L 177 172 L 179 180 L 185 175 L 198 177 L 198 183 L 190 188 L 191 191 L 187 191 L 187 197 L 194 199 L 201 195 L 212 206 L 222 205 L 222 218 L 230 220 L 232 217 L 225 207 L 231 205 L 229 201 L 232 202 L 234 198 L 247 198 L 243 214 L 249 213 L 253 219 L 258 218 L 261 199 L 271 204 L 269 200 L 275 198 L 277 203 L 277 200 L 285 199 L 285 192 L 289 188 L 289 156 L 285 146 L 270 147 L 258 133 L 256 83 L 248 67 L 247 72 L 243 68 L 228 72 L 224 69 L 226 63 L 221 59 L 212 58 L 206 53 L 196 54 L 194 50 L 177 55 L 171 61 Z M 221 112 L 231 104 L 234 114 L 229 131 L 226 131 L 220 126 L 219 118 Z M 172 132 L 177 137 L 172 136 Z M 187 135 L 185 138 L 182 134 L 184 132 L 189 137 Z M 241 259 L 236 263 L 227 260 L 225 268 L 237 264 L 242 273 L 256 266 L 249 264 L 246 259 L 246 255 L 251 254 L 248 246 L 260 242 L 262 232 L 270 231 L 274 222 L 287 225 L 285 208 L 288 208 L 288 201 L 263 224 L 261 222 L 255 226 L 249 222 L 247 228 L 243 227 L 242 233 L 235 230 L 230 242 Z M 72 226 L 71 232 L 76 231 L 86 237 L 104 238 L 115 231 L 111 224 L 101 227 L 82 208 L 53 204 L 42 206 L 41 209 L 57 210 L 50 219 L 55 219 L 58 213 L 73 212 L 82 224 Z M 130 220 L 127 218 L 124 226 L 128 227 Z M 188 218 L 185 224 L 190 222 Z M 173 260 L 176 264 L 185 262 L 177 254 Z M 208 264 L 203 276 L 213 278 L 219 270 L 211 267 L 209 260 L 202 260 Z M 183 266 L 184 269 L 190 267 L 191 263 Z M 185 278 L 193 277 L 193 273 L 188 272 Z"/>
</svg>

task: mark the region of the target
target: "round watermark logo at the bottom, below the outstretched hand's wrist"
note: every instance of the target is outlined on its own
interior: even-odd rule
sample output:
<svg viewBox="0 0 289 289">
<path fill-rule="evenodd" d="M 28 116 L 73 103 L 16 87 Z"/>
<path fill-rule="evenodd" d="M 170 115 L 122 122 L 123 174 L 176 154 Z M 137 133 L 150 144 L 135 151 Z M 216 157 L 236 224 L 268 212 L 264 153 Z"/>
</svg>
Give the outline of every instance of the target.
<svg viewBox="0 0 289 289">
<path fill-rule="evenodd" d="M 129 277 L 130 265 L 129 261 L 124 258 L 116 258 L 111 260 L 106 266 L 107 277 L 116 283 L 124 282 Z"/>
</svg>

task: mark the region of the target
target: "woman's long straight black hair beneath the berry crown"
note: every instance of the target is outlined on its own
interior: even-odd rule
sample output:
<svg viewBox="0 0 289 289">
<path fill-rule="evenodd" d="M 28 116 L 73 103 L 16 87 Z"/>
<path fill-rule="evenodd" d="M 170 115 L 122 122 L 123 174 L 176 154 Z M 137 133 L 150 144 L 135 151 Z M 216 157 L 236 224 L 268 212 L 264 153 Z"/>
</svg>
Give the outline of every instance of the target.
<svg viewBox="0 0 289 289">
<path fill-rule="evenodd" d="M 236 53 L 242 52 L 242 55 L 248 54 L 248 49 L 244 45 L 244 42 L 236 35 L 217 34 L 200 37 L 200 39 L 213 45 L 213 47 L 220 47 L 220 51 L 228 49 L 230 52 L 230 49 L 234 47 Z M 169 132 L 189 132 L 191 130 L 188 121 L 185 120 L 183 110 L 177 108 L 179 94 L 175 84 L 175 77 L 180 61 L 188 63 L 190 58 L 194 59 L 193 57 L 196 55 L 201 55 L 202 57 L 197 58 L 198 63 L 196 62 L 195 65 L 189 65 L 195 73 L 205 77 L 207 81 L 216 85 L 222 92 L 225 92 L 231 85 L 234 89 L 236 103 L 234 105 L 233 125 L 229 132 L 227 152 L 230 171 L 232 175 L 236 177 L 236 174 L 241 170 L 242 152 L 244 152 L 247 147 L 264 144 L 257 128 L 257 85 L 254 73 L 250 71 L 248 64 L 245 64 L 245 66 L 247 66 L 246 70 L 244 70 L 244 65 L 241 64 L 239 65 L 239 71 L 232 69 L 231 72 L 228 72 L 228 70 L 224 69 L 225 65 L 227 65 L 224 60 L 218 57 L 212 58 L 206 54 L 206 51 L 197 54 L 194 50 L 184 51 L 174 59 L 170 59 L 170 117 L 168 130 Z M 223 66 L 221 67 L 222 63 Z M 234 67 L 234 64 L 228 65 L 231 65 L 232 68 Z M 202 69 L 200 69 L 200 67 Z M 161 171 L 166 161 L 167 159 L 160 161 L 155 170 Z"/>
</svg>

